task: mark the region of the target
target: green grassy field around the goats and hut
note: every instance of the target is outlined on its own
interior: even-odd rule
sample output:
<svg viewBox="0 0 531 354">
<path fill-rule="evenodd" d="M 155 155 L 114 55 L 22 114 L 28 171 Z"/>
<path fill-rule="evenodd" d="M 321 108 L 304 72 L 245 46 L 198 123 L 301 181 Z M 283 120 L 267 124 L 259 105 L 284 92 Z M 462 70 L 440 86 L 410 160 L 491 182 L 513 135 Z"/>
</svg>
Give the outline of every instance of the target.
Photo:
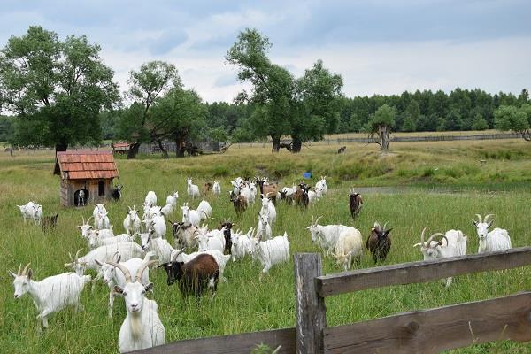
<svg viewBox="0 0 531 354">
<path fill-rule="evenodd" d="M 528 222 L 531 200 L 531 149 L 519 140 L 484 142 L 413 142 L 393 143 L 392 150 L 381 155 L 377 146 L 350 144 L 347 153 L 336 155 L 335 145 L 304 149 L 299 155 L 287 151 L 272 155 L 270 147 L 255 145 L 227 153 L 199 158 L 160 159 L 142 157 L 127 161 L 119 158 L 120 179 L 125 186 L 123 200 L 108 204 L 115 230 L 127 205 L 142 204 L 148 190 L 159 199 L 177 189 L 179 204 L 186 201 L 185 177 L 197 183 L 219 179 L 223 195 L 206 197 L 214 210 L 210 226 L 220 219 L 234 219 L 245 231 L 256 227 L 258 204 L 237 218 L 227 198 L 228 181 L 237 175 L 265 174 L 281 184 L 300 180 L 304 171 L 314 176 L 326 174 L 330 192 L 307 211 L 285 204 L 277 206 L 278 220 L 274 235 L 286 231 L 290 253 L 319 248 L 310 241 L 305 227 L 312 215 L 323 215 L 322 224 L 354 225 L 364 237 L 375 220 L 389 222 L 393 246 L 385 264 L 421 259 L 412 244 L 419 242 L 423 227 L 430 231 L 459 228 L 469 235 L 469 253 L 477 251 L 478 242 L 471 219 L 475 213 L 494 213 L 495 226 L 507 228 L 513 247 L 531 244 Z M 487 163 L 480 165 L 479 160 Z M 108 289 L 96 284 L 93 293 L 86 289 L 81 298 L 84 312 L 67 309 L 50 317 L 50 328 L 38 335 L 40 322 L 29 296 L 13 299 L 12 278 L 7 270 L 16 271 L 19 263 L 32 262 L 35 279 L 64 272 L 68 252 L 85 247 L 76 225 L 92 213 L 92 207 L 66 209 L 58 204 L 58 177 L 51 175 L 50 152 L 18 154 L 13 162 L 9 153 L 0 155 L 0 348 L 2 352 L 27 353 L 113 353 L 117 352 L 119 327 L 125 317 L 123 300 L 114 305 L 114 319 L 107 319 Z M 311 182 L 314 183 L 315 179 Z M 359 219 L 352 222 L 348 211 L 347 190 L 351 186 L 396 186 L 395 193 L 367 193 L 366 206 Z M 16 204 L 35 200 L 45 214 L 59 212 L 58 228 L 44 235 L 38 227 L 24 225 Z M 198 202 L 193 202 L 195 207 Z M 171 219 L 178 219 L 174 215 Z M 168 233 L 168 238 L 172 238 Z M 341 269 L 325 259 L 325 273 Z M 373 266 L 366 255 L 358 267 Z M 221 283 L 216 298 L 184 302 L 176 287 L 165 284 L 165 272 L 153 271 L 154 295 L 159 315 L 165 325 L 168 342 L 211 335 L 227 335 L 261 329 L 295 326 L 293 262 L 275 266 L 268 276 L 258 279 L 261 267 L 250 259 L 230 264 L 227 283 Z M 531 289 L 531 270 L 473 274 L 459 277 L 450 289 L 442 282 L 367 290 L 346 296 L 327 298 L 327 324 L 335 326 L 363 319 L 373 319 L 416 309 L 457 304 L 508 295 Z M 531 345 L 496 342 L 475 345 L 459 353 L 526 353 Z"/>
</svg>

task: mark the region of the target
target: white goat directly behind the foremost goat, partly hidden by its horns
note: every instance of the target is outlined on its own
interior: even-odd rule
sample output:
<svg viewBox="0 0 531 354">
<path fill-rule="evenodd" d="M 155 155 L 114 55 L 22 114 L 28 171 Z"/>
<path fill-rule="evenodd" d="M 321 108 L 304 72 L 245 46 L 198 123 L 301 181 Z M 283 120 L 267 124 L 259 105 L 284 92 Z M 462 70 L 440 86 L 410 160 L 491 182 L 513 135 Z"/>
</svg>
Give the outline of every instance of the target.
<svg viewBox="0 0 531 354">
<path fill-rule="evenodd" d="M 118 259 L 116 260 L 116 263 L 119 263 L 122 266 L 125 266 L 129 272 L 136 273 L 138 269 L 142 266 L 144 262 L 149 262 L 150 258 L 155 255 L 155 252 L 148 252 L 146 253 L 146 257 L 142 260 L 142 258 L 131 258 L 125 262 L 121 262 L 121 257 L 118 255 Z M 100 262 L 96 259 L 96 264 L 98 266 L 101 266 L 100 273 L 102 274 L 102 280 L 105 284 L 109 287 L 110 293 L 109 293 L 109 318 L 112 319 L 112 307 L 114 306 L 114 286 L 118 285 L 119 287 L 126 286 L 126 277 L 121 272 L 116 272 L 116 266 L 112 266 L 107 262 Z M 142 280 L 143 285 L 148 285 L 150 283 L 150 272 L 149 268 L 142 273 Z"/>
</svg>

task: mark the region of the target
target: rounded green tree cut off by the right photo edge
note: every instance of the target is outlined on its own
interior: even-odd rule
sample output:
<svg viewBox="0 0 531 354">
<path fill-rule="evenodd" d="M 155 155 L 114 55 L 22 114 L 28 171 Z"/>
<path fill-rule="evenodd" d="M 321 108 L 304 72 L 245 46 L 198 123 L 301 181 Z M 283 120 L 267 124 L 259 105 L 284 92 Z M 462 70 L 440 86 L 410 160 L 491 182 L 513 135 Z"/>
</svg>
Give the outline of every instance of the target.
<svg viewBox="0 0 531 354">
<path fill-rule="evenodd" d="M 498 130 L 512 130 L 531 142 L 531 104 L 520 108 L 501 105 L 494 112 L 495 127 Z"/>
</svg>

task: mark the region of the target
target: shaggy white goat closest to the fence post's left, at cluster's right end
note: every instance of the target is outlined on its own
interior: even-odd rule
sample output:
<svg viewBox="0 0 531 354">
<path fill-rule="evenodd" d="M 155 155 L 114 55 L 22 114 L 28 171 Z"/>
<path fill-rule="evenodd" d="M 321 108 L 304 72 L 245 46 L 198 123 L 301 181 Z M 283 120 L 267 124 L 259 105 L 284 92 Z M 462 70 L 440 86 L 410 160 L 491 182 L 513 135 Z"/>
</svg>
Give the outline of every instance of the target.
<svg viewBox="0 0 531 354">
<path fill-rule="evenodd" d="M 264 267 L 262 273 L 268 273 L 272 266 L 287 262 L 289 258 L 288 235 L 276 236 L 273 240 L 259 241 L 253 239 L 253 255 Z"/>
</svg>

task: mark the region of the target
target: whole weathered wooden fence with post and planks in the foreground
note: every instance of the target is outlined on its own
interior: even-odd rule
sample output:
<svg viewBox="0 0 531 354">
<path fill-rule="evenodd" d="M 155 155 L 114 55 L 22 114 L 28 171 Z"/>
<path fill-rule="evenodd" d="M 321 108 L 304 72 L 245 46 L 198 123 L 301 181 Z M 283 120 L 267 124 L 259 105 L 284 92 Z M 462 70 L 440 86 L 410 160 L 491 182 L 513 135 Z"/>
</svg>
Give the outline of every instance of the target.
<svg viewBox="0 0 531 354">
<path fill-rule="evenodd" d="M 531 265 L 531 247 L 322 275 L 320 255 L 295 255 L 296 327 L 173 342 L 142 354 L 435 353 L 481 342 L 531 341 L 531 291 L 327 327 L 325 297 Z"/>
</svg>

